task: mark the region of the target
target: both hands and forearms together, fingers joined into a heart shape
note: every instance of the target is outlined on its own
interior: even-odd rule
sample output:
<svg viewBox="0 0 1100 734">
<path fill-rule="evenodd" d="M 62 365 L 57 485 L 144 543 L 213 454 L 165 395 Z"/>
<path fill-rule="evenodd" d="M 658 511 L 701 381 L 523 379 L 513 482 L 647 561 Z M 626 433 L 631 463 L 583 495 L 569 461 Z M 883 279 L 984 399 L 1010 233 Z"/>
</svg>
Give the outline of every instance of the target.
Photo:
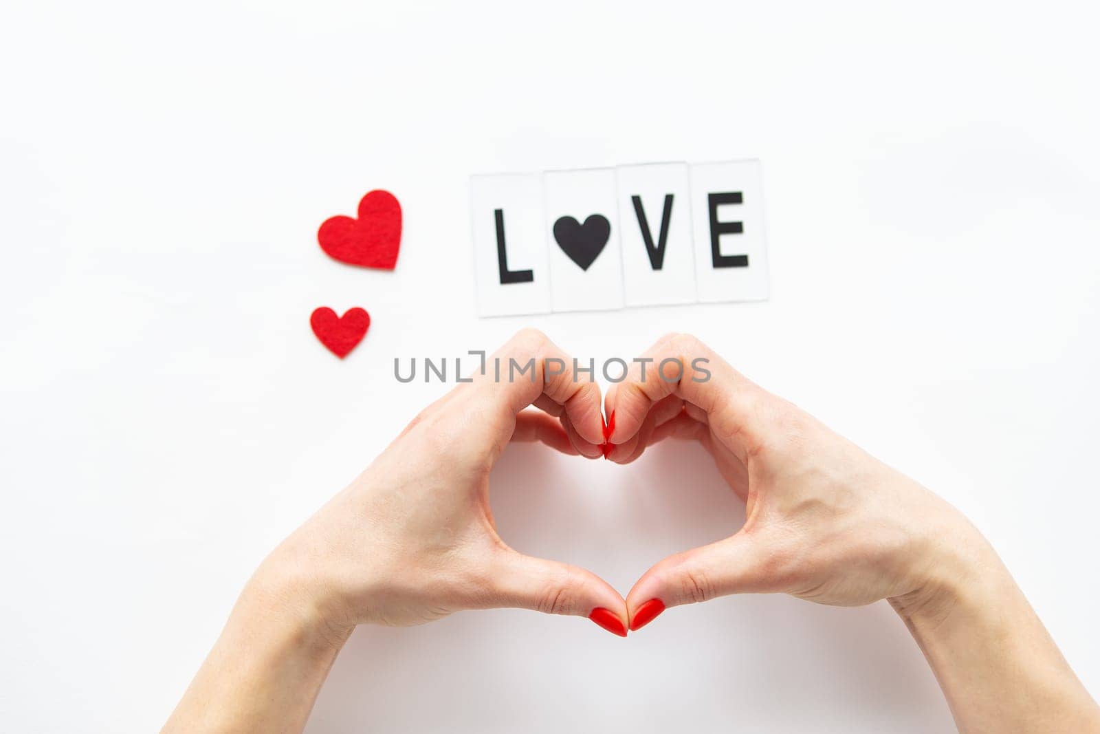
<svg viewBox="0 0 1100 734">
<path fill-rule="evenodd" d="M 534 363 L 531 380 L 502 381 L 483 362 L 480 376 L 421 412 L 276 548 L 165 731 L 211 721 L 301 731 L 361 622 L 518 606 L 587 616 L 625 637 L 666 606 L 739 592 L 838 605 L 889 599 L 960 731 L 1047 731 L 1052 722 L 1056 731 L 1100 731 L 1100 709 L 965 517 L 697 339 L 659 340 L 631 361 L 603 409 L 591 374 L 580 380 L 569 369 L 575 362 L 538 332 L 520 332 L 492 361 L 506 362 L 506 372 Z M 657 365 L 648 380 L 647 365 Z M 497 535 L 490 472 L 509 441 L 627 462 L 669 437 L 711 452 L 746 501 L 746 522 L 658 562 L 626 599 L 586 570 L 521 555 Z M 1004 710 L 1005 700 L 1023 703 Z"/>
</svg>

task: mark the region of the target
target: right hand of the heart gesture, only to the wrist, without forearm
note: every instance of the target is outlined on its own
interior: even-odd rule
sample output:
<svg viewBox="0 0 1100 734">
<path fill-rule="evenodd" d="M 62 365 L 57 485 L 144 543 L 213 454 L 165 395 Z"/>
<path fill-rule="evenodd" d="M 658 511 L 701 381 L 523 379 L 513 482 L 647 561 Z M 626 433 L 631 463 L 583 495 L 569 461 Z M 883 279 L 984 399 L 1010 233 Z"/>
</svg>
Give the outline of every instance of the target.
<svg viewBox="0 0 1100 734">
<path fill-rule="evenodd" d="M 944 500 L 754 384 L 694 337 L 669 335 L 645 357 L 653 361 L 635 362 L 607 393 L 607 458 L 628 463 L 663 438 L 697 440 L 745 501 L 746 521 L 724 540 L 650 568 L 627 595 L 631 629 L 666 606 L 741 592 L 843 606 L 890 599 L 900 611 L 926 610 L 950 603 L 943 590 L 972 572 L 972 559 L 998 563 Z M 669 359 L 683 365 L 679 380 L 673 362 L 663 377 L 657 372 Z"/>
</svg>

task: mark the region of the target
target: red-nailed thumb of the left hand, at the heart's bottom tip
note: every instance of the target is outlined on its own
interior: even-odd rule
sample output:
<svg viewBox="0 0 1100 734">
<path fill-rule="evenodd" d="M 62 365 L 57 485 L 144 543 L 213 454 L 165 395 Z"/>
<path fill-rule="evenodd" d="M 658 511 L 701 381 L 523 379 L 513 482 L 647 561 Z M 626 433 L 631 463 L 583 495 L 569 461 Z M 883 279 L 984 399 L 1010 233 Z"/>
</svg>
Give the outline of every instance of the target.
<svg viewBox="0 0 1100 734">
<path fill-rule="evenodd" d="M 509 548 L 498 555 L 491 584 L 491 606 L 586 616 L 607 632 L 626 637 L 622 594 L 583 568 L 524 556 Z"/>
</svg>

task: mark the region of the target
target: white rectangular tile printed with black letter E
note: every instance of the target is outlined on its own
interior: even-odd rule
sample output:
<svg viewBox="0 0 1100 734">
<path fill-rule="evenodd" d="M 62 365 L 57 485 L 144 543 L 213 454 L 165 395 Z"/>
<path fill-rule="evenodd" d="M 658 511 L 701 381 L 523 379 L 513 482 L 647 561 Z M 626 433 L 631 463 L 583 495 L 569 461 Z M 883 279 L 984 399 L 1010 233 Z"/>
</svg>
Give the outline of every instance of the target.
<svg viewBox="0 0 1100 734">
<path fill-rule="evenodd" d="M 768 247 L 760 162 L 728 161 L 693 165 L 691 193 L 698 299 L 704 303 L 767 299 Z M 712 194 L 740 195 L 740 201 L 715 205 L 714 228 L 711 227 Z M 722 224 L 734 222 L 741 224 L 741 231 L 722 231 Z M 716 267 L 712 229 L 718 231 L 719 255 L 746 256 L 748 264 L 724 264 Z"/>
</svg>

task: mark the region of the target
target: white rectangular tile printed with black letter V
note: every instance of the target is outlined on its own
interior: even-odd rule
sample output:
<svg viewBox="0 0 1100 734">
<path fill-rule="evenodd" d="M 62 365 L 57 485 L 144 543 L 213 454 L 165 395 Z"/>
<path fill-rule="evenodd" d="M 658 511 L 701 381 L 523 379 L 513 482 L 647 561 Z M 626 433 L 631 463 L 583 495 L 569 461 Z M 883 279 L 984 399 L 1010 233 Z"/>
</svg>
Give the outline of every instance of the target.
<svg viewBox="0 0 1100 734">
<path fill-rule="evenodd" d="M 695 303 L 695 253 L 692 247 L 688 164 L 619 166 L 615 169 L 615 177 L 626 305 Z M 645 224 L 635 209 L 636 196 L 641 201 Z M 664 201 L 668 196 L 672 196 L 672 206 L 666 223 Z M 660 270 L 653 269 L 642 227 L 649 230 L 649 242 L 656 249 L 661 247 L 662 227 L 667 228 Z"/>
</svg>

